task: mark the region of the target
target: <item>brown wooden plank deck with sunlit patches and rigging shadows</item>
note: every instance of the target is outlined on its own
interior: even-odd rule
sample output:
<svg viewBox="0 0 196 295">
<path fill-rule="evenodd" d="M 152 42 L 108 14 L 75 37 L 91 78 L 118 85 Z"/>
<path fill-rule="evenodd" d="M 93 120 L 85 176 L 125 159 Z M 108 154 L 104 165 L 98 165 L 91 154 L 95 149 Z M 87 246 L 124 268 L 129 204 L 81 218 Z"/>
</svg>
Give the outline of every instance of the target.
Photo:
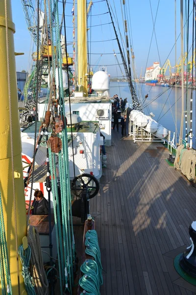
<svg viewBox="0 0 196 295">
<path fill-rule="evenodd" d="M 173 255 L 189 244 L 196 189 L 167 164 L 168 150 L 152 156 L 161 144 L 134 144 L 113 132 L 100 194 L 91 200 L 102 253 L 101 295 L 196 294 L 195 286 L 181 285 L 172 266 Z"/>
</svg>

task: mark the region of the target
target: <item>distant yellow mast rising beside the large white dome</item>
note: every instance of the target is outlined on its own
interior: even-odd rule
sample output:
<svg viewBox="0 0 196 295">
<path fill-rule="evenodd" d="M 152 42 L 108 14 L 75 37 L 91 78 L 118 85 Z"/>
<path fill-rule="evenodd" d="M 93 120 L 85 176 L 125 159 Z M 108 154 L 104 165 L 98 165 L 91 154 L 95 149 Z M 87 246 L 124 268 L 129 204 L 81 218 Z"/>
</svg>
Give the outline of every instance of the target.
<svg viewBox="0 0 196 295">
<path fill-rule="evenodd" d="M 77 76 L 79 91 L 87 96 L 87 9 L 86 0 L 77 1 Z M 81 87 L 82 86 L 82 87 Z"/>
</svg>

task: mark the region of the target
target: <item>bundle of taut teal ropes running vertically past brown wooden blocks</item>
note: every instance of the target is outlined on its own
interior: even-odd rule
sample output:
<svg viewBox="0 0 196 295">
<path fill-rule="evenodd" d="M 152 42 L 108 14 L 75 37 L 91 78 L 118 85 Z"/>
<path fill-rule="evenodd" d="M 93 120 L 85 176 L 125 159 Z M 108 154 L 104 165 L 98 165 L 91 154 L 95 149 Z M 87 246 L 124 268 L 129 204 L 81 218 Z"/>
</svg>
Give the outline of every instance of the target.
<svg viewBox="0 0 196 295">
<path fill-rule="evenodd" d="M 51 2 L 52 1 L 50 0 L 50 12 L 51 12 Z M 55 3 L 56 3 L 55 27 L 54 27 L 55 37 L 52 34 L 52 40 L 53 40 L 53 43 L 55 41 L 55 46 L 56 46 L 55 61 L 57 64 L 58 76 L 56 75 L 55 77 L 55 84 L 58 83 L 59 85 L 57 89 L 58 91 L 57 98 L 59 101 L 59 107 L 56 107 L 56 110 L 54 110 L 54 108 L 52 109 L 52 112 L 53 112 L 52 115 L 53 117 L 56 118 L 56 116 L 58 117 L 58 113 L 59 113 L 61 118 L 65 118 L 64 89 L 63 89 L 63 77 L 62 77 L 62 55 L 61 55 L 61 45 L 60 45 L 60 34 L 58 29 L 59 19 L 58 19 L 57 0 L 55 1 Z M 64 21 L 64 29 L 65 29 L 65 40 L 66 40 L 66 26 L 65 26 L 64 13 L 65 13 L 65 10 L 63 6 L 63 21 Z M 65 48 L 66 48 L 66 54 L 67 54 L 67 42 L 65 43 Z M 53 53 L 53 56 L 54 56 L 54 53 Z M 68 71 L 68 67 L 67 67 L 67 71 Z M 54 97 L 54 99 L 56 99 L 56 97 Z M 71 113 L 71 104 L 70 104 L 70 113 Z M 58 195 L 55 154 L 51 152 L 50 146 L 49 146 L 49 167 L 50 167 L 50 175 L 51 175 L 52 195 L 54 198 L 53 200 L 54 200 L 54 219 L 55 219 L 55 228 L 56 228 L 56 239 L 57 239 L 57 244 L 59 245 L 57 253 L 58 253 L 58 260 L 61 261 L 61 264 L 59 264 L 60 289 L 61 289 L 61 293 L 65 291 L 72 294 L 73 268 L 74 268 L 73 265 L 75 265 L 75 256 L 74 256 L 74 237 L 73 237 L 73 223 L 72 223 L 72 200 L 71 200 L 70 176 L 69 176 L 68 137 L 67 137 L 66 126 L 62 130 L 61 141 L 62 141 L 62 150 L 58 152 L 58 165 L 59 165 L 58 168 L 59 168 L 61 196 Z M 62 229 L 61 229 L 61 224 L 62 224 Z M 64 287 L 65 287 L 65 290 L 63 290 Z"/>
</svg>

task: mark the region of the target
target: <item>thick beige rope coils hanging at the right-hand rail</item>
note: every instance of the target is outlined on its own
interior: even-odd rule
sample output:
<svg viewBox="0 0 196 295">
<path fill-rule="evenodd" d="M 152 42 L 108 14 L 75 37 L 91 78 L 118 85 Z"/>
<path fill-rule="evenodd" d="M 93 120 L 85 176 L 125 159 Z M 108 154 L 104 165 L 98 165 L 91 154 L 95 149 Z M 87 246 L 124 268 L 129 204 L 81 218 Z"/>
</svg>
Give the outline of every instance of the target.
<svg viewBox="0 0 196 295">
<path fill-rule="evenodd" d="M 185 149 L 184 145 L 179 146 L 176 151 L 174 167 L 181 169 L 182 174 L 189 180 L 194 180 L 196 177 L 196 151 Z"/>
</svg>

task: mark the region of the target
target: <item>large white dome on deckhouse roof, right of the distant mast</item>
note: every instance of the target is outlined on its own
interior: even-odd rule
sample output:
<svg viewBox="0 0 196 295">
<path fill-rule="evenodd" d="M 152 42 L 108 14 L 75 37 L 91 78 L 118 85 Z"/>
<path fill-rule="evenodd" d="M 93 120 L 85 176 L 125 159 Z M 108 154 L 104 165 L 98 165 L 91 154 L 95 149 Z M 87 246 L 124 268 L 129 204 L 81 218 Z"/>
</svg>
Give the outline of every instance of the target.
<svg viewBox="0 0 196 295">
<path fill-rule="evenodd" d="M 92 89 L 98 93 L 102 93 L 109 90 L 110 78 L 104 71 L 98 71 L 93 75 L 92 78 Z"/>
</svg>

